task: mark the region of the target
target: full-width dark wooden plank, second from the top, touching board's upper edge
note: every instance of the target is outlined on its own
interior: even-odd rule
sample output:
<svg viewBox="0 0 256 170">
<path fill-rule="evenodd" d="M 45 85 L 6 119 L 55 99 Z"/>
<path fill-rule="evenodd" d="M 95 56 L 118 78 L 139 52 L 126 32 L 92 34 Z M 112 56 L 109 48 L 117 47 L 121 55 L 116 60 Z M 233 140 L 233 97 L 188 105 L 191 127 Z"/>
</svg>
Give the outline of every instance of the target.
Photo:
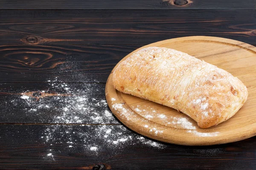
<svg viewBox="0 0 256 170">
<path fill-rule="evenodd" d="M 131 44 L 205 35 L 256 44 L 255 10 L 1 10 L 0 44 Z"/>
</svg>

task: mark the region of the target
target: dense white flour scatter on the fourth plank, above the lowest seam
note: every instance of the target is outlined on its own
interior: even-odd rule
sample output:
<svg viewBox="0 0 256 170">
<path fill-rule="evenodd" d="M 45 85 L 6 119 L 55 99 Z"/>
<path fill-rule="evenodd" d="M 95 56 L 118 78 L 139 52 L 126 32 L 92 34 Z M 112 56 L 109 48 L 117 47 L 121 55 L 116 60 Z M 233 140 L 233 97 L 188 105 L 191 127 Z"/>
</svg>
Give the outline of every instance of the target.
<svg viewBox="0 0 256 170">
<path fill-rule="evenodd" d="M 12 99 L 12 108 L 24 108 L 26 119 L 39 123 L 119 124 L 102 99 L 104 85 L 62 83 L 57 78 L 48 82 L 49 90 L 35 91 L 34 96 L 33 91 L 25 91 Z"/>
</svg>

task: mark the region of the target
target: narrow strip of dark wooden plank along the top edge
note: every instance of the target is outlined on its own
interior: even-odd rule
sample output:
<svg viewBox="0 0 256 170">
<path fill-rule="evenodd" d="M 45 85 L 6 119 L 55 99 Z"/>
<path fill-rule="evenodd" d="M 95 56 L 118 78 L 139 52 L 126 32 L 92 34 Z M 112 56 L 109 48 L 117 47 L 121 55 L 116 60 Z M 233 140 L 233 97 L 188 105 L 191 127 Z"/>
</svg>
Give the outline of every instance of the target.
<svg viewBox="0 0 256 170">
<path fill-rule="evenodd" d="M 254 9 L 254 0 L 1 0 L 0 9 Z"/>
</svg>

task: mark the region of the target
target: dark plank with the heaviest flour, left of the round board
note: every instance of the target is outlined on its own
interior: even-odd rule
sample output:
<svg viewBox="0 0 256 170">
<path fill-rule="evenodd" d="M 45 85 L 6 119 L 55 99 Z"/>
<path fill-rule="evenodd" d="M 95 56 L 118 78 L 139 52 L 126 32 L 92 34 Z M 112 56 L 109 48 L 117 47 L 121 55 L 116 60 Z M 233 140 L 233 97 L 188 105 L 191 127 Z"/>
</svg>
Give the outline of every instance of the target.
<svg viewBox="0 0 256 170">
<path fill-rule="evenodd" d="M 105 84 L 56 81 L 1 83 L 0 123 L 120 124 L 108 108 Z"/>
</svg>

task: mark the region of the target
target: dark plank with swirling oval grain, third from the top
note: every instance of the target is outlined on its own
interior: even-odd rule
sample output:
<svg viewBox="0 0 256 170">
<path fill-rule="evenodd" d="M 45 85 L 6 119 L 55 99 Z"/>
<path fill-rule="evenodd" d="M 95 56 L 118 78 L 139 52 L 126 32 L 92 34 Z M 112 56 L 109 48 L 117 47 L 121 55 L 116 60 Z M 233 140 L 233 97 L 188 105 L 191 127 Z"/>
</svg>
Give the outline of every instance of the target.
<svg viewBox="0 0 256 170">
<path fill-rule="evenodd" d="M 139 45 L 2 45 L 0 82 L 106 82 Z"/>
</svg>

